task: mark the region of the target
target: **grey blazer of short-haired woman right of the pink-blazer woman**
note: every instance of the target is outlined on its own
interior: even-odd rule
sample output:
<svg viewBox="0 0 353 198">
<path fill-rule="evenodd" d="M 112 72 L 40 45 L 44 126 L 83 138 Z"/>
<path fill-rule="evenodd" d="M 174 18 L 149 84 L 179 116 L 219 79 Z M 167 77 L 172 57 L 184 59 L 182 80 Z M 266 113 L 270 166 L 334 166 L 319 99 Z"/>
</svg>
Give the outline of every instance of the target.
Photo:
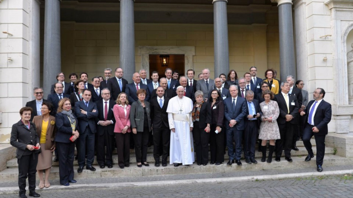
<svg viewBox="0 0 353 198">
<path fill-rule="evenodd" d="M 147 118 L 148 118 L 148 129 L 151 129 L 151 105 L 148 101 L 145 100 Z M 136 128 L 137 131 L 143 131 L 144 123 L 144 111 L 143 106 L 141 105 L 140 100 L 137 100 L 131 104 L 130 109 L 130 123 L 131 128 Z"/>
</svg>

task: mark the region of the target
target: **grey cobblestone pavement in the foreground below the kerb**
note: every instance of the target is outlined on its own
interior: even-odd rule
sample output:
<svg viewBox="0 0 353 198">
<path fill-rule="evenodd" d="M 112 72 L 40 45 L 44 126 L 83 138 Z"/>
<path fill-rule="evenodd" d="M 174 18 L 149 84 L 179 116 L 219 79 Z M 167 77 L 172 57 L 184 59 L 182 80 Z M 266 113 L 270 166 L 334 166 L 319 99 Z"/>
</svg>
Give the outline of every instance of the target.
<svg viewBox="0 0 353 198">
<path fill-rule="evenodd" d="M 3 195 L 4 198 L 17 195 Z M 285 180 L 221 182 L 163 187 L 124 187 L 120 189 L 61 190 L 41 192 L 41 197 L 352 197 L 353 176 L 337 175 Z"/>
</svg>

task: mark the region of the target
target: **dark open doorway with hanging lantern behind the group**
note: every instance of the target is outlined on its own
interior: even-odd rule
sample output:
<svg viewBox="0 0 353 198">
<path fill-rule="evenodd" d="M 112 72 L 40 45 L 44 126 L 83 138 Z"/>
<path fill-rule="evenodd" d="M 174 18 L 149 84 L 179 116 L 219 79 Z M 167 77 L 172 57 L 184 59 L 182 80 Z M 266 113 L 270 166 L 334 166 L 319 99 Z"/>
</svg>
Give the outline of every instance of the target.
<svg viewBox="0 0 353 198">
<path fill-rule="evenodd" d="M 164 75 L 164 70 L 166 68 L 171 68 L 173 71 L 177 70 L 179 72 L 179 77 L 184 76 L 185 71 L 185 58 L 184 54 L 172 54 L 169 55 L 169 62 L 167 67 L 162 67 L 160 54 L 150 54 L 149 61 L 150 61 L 150 75 L 151 78 L 152 72 L 157 71 L 159 78 L 166 77 Z M 158 79 L 159 80 L 159 79 Z"/>
</svg>

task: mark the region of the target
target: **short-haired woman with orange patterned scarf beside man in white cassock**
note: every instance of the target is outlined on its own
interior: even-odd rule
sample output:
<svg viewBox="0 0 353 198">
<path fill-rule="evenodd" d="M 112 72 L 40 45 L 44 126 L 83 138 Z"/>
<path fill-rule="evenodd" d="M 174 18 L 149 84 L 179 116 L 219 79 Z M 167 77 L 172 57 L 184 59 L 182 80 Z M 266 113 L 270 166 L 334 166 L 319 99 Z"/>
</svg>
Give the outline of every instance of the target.
<svg viewBox="0 0 353 198">
<path fill-rule="evenodd" d="M 195 140 L 196 162 L 197 165 L 206 166 L 208 163 L 208 141 L 210 138 L 211 107 L 210 103 L 203 100 L 203 92 L 196 91 L 195 105 L 192 109 L 192 130 Z"/>
</svg>

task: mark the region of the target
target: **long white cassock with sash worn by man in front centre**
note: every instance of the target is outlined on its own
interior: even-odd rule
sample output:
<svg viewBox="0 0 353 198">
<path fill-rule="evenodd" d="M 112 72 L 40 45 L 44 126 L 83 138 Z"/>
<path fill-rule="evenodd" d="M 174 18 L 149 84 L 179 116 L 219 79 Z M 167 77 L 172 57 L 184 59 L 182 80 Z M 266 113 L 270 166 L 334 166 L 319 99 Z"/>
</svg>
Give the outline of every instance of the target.
<svg viewBox="0 0 353 198">
<path fill-rule="evenodd" d="M 170 131 L 169 163 L 182 163 L 190 165 L 195 162 L 195 153 L 192 132 L 191 118 L 192 100 L 188 97 L 180 99 L 178 96 L 169 100 L 167 113 Z"/>
</svg>

